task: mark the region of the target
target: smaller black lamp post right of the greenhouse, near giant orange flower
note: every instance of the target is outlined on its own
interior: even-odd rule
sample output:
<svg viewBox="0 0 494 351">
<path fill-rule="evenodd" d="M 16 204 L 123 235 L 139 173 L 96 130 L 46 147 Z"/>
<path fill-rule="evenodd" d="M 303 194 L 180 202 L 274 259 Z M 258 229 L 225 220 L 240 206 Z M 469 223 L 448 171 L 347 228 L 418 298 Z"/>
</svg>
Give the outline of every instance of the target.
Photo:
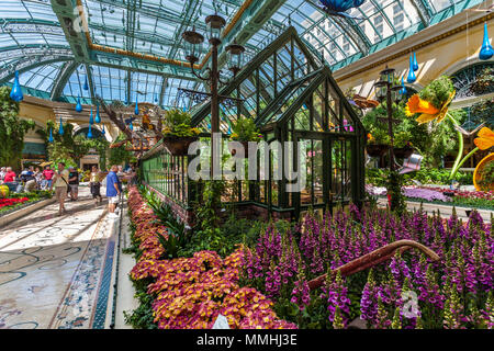
<svg viewBox="0 0 494 351">
<path fill-rule="evenodd" d="M 374 83 L 375 95 L 380 102 L 386 101 L 388 112 L 388 134 L 390 135 L 390 171 L 394 170 L 394 135 L 393 123 L 400 123 L 400 120 L 393 120 L 393 101 L 398 103 L 403 97 L 400 90 L 403 88 L 395 83 L 394 68 L 386 68 L 380 72 L 380 80 Z"/>
</svg>

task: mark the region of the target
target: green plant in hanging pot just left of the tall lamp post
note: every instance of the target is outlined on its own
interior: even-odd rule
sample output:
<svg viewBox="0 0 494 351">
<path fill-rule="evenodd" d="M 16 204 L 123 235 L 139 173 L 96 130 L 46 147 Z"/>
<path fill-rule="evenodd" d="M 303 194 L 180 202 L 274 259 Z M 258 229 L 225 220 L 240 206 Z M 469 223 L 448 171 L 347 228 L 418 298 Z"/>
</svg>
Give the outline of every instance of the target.
<svg viewBox="0 0 494 351">
<path fill-rule="evenodd" d="M 179 109 L 171 109 L 165 113 L 162 143 L 173 156 L 186 156 L 189 146 L 198 140 L 199 128 L 191 125 L 191 115 Z"/>
</svg>

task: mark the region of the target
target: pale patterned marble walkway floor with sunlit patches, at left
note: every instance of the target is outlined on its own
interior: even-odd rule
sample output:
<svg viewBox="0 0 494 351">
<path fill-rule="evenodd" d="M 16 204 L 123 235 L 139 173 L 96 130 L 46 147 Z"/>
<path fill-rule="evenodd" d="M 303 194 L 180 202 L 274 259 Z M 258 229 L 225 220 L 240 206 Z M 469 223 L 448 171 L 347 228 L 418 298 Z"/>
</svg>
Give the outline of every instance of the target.
<svg viewBox="0 0 494 351">
<path fill-rule="evenodd" d="M 116 222 L 79 192 L 0 229 L 0 328 L 103 328 Z"/>
</svg>

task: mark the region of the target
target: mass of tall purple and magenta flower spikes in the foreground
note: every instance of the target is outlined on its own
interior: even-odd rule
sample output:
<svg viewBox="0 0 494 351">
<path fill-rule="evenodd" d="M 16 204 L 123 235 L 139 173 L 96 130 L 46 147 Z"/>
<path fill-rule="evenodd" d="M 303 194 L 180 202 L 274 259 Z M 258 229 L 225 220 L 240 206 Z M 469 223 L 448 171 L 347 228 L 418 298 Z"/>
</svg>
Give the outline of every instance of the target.
<svg viewBox="0 0 494 351">
<path fill-rule="evenodd" d="M 246 251 L 243 283 L 300 328 L 345 328 L 356 318 L 370 328 L 493 328 L 493 227 L 475 211 L 465 224 L 456 214 L 395 216 L 352 205 L 323 219 L 307 214 L 297 231 L 271 226 L 259 237 Z M 440 260 L 409 250 L 350 276 L 328 274 L 308 291 L 310 280 L 401 239 L 422 242 Z M 406 296 L 416 296 L 412 309 Z"/>
</svg>

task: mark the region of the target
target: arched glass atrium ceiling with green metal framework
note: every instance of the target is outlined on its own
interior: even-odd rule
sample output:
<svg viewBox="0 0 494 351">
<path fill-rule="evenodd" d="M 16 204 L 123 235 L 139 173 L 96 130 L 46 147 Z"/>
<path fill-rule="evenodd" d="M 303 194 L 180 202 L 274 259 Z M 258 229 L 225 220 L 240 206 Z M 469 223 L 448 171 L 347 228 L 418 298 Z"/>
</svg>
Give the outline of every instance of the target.
<svg viewBox="0 0 494 351">
<path fill-rule="evenodd" d="M 242 31 L 251 32 L 249 21 L 265 2 L 279 5 L 240 43 L 247 48 L 246 59 L 293 25 L 337 70 L 482 1 L 366 0 L 347 11 L 355 18 L 348 20 L 326 15 L 318 0 L 0 0 L 0 84 L 12 82 L 18 69 L 26 93 L 45 99 L 75 102 L 81 97 L 90 103 L 98 94 L 106 101 L 134 102 L 138 95 L 138 101 L 171 106 L 178 88 L 204 89 L 189 68 L 144 63 L 137 55 L 112 50 L 184 61 L 183 31 L 195 25 L 205 34 L 204 19 L 216 11 L 226 19 L 226 39 L 233 41 Z M 78 43 L 66 37 L 59 22 L 77 5 L 89 26 L 89 37 Z M 77 8 L 70 12 L 78 14 Z M 87 54 L 74 55 L 75 44 L 81 43 Z M 207 49 L 204 45 L 201 59 Z M 87 77 L 89 90 L 83 89 Z"/>
</svg>

